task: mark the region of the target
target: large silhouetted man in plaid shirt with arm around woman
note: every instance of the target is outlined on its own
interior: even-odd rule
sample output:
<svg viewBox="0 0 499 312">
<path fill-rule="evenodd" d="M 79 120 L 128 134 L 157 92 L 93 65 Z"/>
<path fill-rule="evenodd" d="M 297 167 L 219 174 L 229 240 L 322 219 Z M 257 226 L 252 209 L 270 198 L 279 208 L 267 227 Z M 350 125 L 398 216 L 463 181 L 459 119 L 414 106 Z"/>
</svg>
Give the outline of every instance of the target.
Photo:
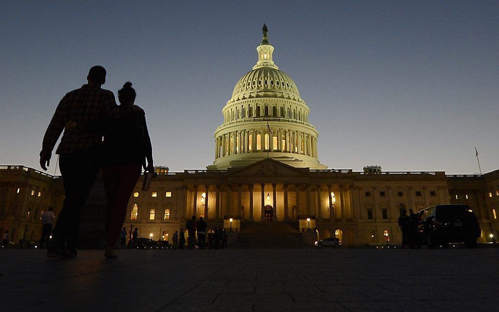
<svg viewBox="0 0 499 312">
<path fill-rule="evenodd" d="M 70 91 L 59 102 L 43 137 L 40 166 L 47 170 L 52 150 L 66 122 L 94 123 L 115 118 L 114 94 L 101 89 L 106 81 L 102 66 L 90 68 L 88 83 Z M 101 165 L 101 133 L 66 129 L 56 153 L 64 184 L 64 205 L 53 230 L 48 257 L 73 258 L 78 247 L 79 216 Z"/>
</svg>

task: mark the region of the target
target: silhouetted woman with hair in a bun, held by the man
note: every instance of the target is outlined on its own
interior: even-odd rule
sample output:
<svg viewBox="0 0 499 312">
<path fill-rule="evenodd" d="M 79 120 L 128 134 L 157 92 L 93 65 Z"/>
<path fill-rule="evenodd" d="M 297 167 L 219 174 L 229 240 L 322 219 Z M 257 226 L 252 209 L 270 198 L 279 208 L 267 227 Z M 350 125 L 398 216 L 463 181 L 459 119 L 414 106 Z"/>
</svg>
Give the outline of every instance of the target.
<svg viewBox="0 0 499 312">
<path fill-rule="evenodd" d="M 104 135 L 104 188 L 107 198 L 107 241 L 104 256 L 116 259 L 114 246 L 125 221 L 126 206 L 142 172 L 153 172 L 151 139 L 144 110 L 134 105 L 136 93 L 131 82 L 118 91 L 119 118 Z M 147 160 L 147 165 L 146 165 Z"/>
</svg>

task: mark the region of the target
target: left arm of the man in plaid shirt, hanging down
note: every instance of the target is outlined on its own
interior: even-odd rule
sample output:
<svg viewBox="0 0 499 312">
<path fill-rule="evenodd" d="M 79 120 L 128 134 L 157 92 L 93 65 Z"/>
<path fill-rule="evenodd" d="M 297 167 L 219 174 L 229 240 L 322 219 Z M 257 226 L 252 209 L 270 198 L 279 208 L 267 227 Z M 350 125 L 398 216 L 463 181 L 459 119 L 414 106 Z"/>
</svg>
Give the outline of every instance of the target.
<svg viewBox="0 0 499 312">
<path fill-rule="evenodd" d="M 54 149 L 55 143 L 59 139 L 59 136 L 64 129 L 64 124 L 66 123 L 66 96 L 64 96 L 52 116 L 52 120 L 48 124 L 45 135 L 43 136 L 43 141 L 41 144 L 40 151 L 40 167 L 43 170 L 47 170 L 47 166 L 50 165 L 50 157 L 52 156 L 52 150 Z"/>
</svg>

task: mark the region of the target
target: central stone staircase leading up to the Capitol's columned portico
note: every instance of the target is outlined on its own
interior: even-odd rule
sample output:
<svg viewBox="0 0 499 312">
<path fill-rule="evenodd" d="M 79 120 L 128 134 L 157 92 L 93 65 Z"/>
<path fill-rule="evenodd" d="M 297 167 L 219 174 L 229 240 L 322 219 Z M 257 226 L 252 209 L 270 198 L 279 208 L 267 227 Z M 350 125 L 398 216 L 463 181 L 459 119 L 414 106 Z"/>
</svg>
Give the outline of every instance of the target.
<svg viewBox="0 0 499 312">
<path fill-rule="evenodd" d="M 311 248 L 303 242 L 297 222 L 242 222 L 236 248 L 301 249 Z"/>
</svg>

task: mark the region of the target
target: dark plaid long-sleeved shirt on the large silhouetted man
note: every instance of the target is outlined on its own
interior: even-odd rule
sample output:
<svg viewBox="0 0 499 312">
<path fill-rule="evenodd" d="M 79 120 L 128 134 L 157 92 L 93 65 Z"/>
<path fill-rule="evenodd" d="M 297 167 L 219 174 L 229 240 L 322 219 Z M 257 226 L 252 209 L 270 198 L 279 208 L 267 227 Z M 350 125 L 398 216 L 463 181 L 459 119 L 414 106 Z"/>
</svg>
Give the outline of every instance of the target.
<svg viewBox="0 0 499 312">
<path fill-rule="evenodd" d="M 59 102 L 43 137 L 42 153 L 51 153 L 67 121 L 76 123 L 97 122 L 115 118 L 117 105 L 113 92 L 84 84 L 68 92 Z M 57 154 L 75 153 L 87 148 L 102 146 L 100 133 L 83 133 L 76 129 L 64 130 Z"/>
</svg>

